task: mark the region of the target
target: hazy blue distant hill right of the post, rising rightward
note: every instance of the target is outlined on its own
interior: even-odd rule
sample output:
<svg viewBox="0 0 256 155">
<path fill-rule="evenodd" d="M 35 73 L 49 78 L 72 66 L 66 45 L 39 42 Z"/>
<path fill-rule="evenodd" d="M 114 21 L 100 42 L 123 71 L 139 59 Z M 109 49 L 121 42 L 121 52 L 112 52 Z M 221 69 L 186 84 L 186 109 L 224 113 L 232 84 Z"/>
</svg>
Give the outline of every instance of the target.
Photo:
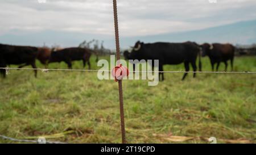
<svg viewBox="0 0 256 155">
<path fill-rule="evenodd" d="M 166 33 L 161 35 L 127 37 L 121 40 L 121 45 L 128 47 L 135 41 L 155 42 L 183 42 L 196 41 L 197 43 L 233 43 L 253 44 L 256 43 L 256 20 L 238 22 L 224 26 L 206 28 L 204 30 Z"/>
</svg>

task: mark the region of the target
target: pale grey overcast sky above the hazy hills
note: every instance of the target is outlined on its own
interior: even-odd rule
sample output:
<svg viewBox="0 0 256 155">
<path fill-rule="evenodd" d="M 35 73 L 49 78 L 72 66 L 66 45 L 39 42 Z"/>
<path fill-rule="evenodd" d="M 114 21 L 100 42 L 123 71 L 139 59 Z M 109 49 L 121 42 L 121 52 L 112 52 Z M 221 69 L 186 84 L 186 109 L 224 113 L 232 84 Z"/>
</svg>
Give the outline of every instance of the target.
<svg viewBox="0 0 256 155">
<path fill-rule="evenodd" d="M 0 0 L 0 36 L 68 31 L 114 35 L 112 0 Z M 255 0 L 117 0 L 121 37 L 200 30 L 256 19 Z"/>
</svg>

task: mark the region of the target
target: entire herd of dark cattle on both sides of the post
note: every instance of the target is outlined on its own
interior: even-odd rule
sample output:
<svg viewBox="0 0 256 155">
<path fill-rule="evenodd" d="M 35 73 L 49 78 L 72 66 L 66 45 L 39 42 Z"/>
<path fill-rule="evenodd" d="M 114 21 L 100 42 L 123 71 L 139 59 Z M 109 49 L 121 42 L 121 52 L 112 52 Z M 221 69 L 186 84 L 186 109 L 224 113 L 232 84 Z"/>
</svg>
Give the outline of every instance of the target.
<svg viewBox="0 0 256 155">
<path fill-rule="evenodd" d="M 197 65 L 196 59 L 199 57 L 199 71 L 201 71 L 201 56 L 209 56 L 212 70 L 214 70 L 214 64 L 217 64 L 216 71 L 220 62 L 225 63 L 225 70 L 228 67 L 228 60 L 231 61 L 233 70 L 235 48 L 231 44 L 208 44 L 199 45 L 194 42 L 187 41 L 185 43 L 151 43 L 145 44 L 141 41 L 137 41 L 131 52 L 125 51 L 123 56 L 127 60 L 159 60 L 159 76 L 164 75 L 163 65 L 176 65 L 184 63 L 185 71 L 189 71 L 189 64 L 192 65 L 193 72 L 196 72 Z M 53 51 L 49 48 L 37 48 L 28 46 L 15 46 L 0 44 L 0 68 L 6 68 L 7 65 L 20 65 L 22 68 L 27 65 L 31 65 L 36 69 L 36 59 L 42 64 L 47 65 L 51 62 L 64 61 L 68 64 L 68 68 L 72 68 L 72 61 L 82 60 L 85 67 L 89 65 L 90 69 L 90 56 L 94 52 L 87 48 L 65 48 L 58 51 Z M 98 59 L 98 58 L 97 58 Z M 152 66 L 154 67 L 154 66 Z M 36 70 L 35 77 L 37 75 Z M 3 77 L 6 76 L 6 69 L 0 69 Z M 187 73 L 184 73 L 182 79 L 185 79 Z M 194 73 L 193 77 L 196 76 Z"/>
</svg>

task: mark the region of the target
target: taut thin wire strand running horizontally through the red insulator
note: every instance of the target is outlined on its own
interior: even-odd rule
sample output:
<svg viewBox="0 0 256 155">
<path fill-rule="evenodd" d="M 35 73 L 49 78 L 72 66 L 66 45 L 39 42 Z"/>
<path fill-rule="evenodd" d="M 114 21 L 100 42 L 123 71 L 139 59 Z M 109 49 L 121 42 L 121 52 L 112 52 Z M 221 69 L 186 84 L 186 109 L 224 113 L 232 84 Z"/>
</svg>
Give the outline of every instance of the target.
<svg viewBox="0 0 256 155">
<path fill-rule="evenodd" d="M 96 69 L 42 69 L 42 68 L 0 68 L 5 70 L 40 70 L 42 72 L 49 72 L 49 71 L 69 71 L 69 72 L 112 72 L 112 70 L 96 70 Z M 212 71 L 203 71 L 203 72 L 193 72 L 193 71 L 147 71 L 147 70 L 140 70 L 140 71 L 129 71 L 130 73 L 143 73 L 143 72 L 153 72 L 153 73 L 226 73 L 226 74 L 256 74 L 256 72 L 250 71 L 243 71 L 243 72 L 212 72 Z"/>
</svg>

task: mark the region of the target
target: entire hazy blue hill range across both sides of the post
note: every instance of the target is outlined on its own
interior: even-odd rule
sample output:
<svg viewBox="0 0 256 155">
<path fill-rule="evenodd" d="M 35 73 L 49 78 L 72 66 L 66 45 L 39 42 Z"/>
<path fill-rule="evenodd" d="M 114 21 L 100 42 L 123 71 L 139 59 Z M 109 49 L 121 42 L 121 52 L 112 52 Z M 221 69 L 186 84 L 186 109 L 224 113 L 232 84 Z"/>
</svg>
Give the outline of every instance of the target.
<svg viewBox="0 0 256 155">
<path fill-rule="evenodd" d="M 104 40 L 105 47 L 114 49 L 114 33 L 109 35 L 93 35 L 81 32 L 51 31 L 45 30 L 40 32 L 20 32 L 13 30 L 12 32 L 0 35 L 0 43 L 19 44 L 19 45 L 35 45 L 42 46 L 58 44 L 62 47 L 78 46 L 84 40 Z M 183 42 L 196 41 L 197 43 L 218 42 L 233 44 L 252 44 L 256 43 L 256 20 L 238 22 L 224 26 L 206 28 L 204 30 L 164 33 L 151 36 L 122 37 L 121 48 L 127 48 L 134 45 L 135 41 L 141 40 L 146 43 L 155 41 L 167 42 Z"/>
</svg>

